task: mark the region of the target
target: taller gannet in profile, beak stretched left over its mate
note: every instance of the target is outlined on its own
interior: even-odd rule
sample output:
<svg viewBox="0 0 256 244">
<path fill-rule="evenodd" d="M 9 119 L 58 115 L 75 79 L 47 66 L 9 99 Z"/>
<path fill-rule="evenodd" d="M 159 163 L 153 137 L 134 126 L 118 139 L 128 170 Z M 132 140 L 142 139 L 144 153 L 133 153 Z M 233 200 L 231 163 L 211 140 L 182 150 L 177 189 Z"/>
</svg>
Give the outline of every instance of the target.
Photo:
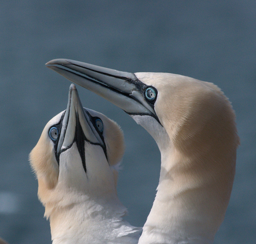
<svg viewBox="0 0 256 244">
<path fill-rule="evenodd" d="M 47 67 L 122 108 L 161 152 L 155 201 L 139 244 L 209 244 L 228 207 L 239 137 L 213 83 L 171 73 L 128 73 L 54 59 Z"/>
</svg>

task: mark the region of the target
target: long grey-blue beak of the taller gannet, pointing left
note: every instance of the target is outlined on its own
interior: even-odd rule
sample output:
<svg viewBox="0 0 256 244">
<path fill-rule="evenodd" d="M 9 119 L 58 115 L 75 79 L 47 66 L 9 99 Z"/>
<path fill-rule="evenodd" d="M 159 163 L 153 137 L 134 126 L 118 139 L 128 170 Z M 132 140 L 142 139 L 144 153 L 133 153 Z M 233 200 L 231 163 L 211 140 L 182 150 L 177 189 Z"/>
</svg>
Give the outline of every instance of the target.
<svg viewBox="0 0 256 244">
<path fill-rule="evenodd" d="M 139 81 L 134 73 L 70 59 L 53 59 L 46 63 L 46 66 L 104 97 L 130 115 L 149 115 L 158 120 L 154 110 L 157 90 Z M 151 91 L 151 88 L 154 90 L 153 99 L 146 96 L 146 92 Z"/>
</svg>

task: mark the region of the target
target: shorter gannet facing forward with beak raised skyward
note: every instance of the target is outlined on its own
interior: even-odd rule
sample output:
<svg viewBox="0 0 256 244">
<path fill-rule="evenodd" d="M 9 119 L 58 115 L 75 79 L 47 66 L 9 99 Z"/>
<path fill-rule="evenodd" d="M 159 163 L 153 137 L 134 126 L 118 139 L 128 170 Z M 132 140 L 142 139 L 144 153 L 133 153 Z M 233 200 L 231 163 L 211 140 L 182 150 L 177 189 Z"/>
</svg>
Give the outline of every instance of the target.
<svg viewBox="0 0 256 244">
<path fill-rule="evenodd" d="M 71 84 L 66 111 L 47 123 L 29 155 L 53 244 L 138 242 L 142 229 L 122 219 L 116 192 L 123 137 L 114 121 L 82 107 Z"/>
</svg>

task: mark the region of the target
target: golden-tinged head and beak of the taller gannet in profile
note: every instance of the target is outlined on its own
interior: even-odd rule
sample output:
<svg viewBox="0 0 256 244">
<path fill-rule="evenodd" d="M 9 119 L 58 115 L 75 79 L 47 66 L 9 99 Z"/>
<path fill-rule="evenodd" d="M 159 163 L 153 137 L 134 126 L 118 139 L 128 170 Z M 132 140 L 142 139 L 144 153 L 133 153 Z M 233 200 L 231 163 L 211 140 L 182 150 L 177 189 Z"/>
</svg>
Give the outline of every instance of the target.
<svg viewBox="0 0 256 244">
<path fill-rule="evenodd" d="M 171 73 L 116 71 L 70 59 L 53 59 L 46 66 L 122 108 L 159 146 L 165 132 L 173 142 L 193 137 L 215 112 L 216 122 L 230 126 L 227 130 L 233 133 L 235 145 L 238 143 L 232 106 L 213 83 Z M 218 125 L 213 131 L 216 129 Z"/>
</svg>

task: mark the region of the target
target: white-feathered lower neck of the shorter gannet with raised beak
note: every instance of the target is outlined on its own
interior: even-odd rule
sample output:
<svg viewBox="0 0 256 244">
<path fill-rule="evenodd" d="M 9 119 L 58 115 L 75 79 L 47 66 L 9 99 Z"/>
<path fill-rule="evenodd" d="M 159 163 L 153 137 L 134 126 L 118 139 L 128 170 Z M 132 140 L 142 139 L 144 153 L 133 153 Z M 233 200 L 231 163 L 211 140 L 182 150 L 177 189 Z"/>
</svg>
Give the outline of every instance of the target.
<svg viewBox="0 0 256 244">
<path fill-rule="evenodd" d="M 106 201 L 87 198 L 81 203 L 52 208 L 52 243 L 137 243 L 141 231 L 122 219 L 125 213 L 126 208 L 117 197 Z"/>
</svg>

